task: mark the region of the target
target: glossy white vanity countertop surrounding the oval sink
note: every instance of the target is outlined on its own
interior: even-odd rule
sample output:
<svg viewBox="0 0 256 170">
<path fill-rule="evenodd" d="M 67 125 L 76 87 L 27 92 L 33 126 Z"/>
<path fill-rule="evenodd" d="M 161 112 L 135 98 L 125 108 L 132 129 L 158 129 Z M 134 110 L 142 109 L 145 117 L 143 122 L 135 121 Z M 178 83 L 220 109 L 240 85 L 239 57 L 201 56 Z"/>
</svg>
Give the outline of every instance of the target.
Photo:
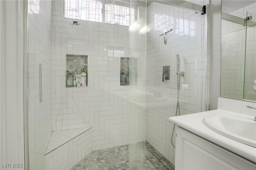
<svg viewBox="0 0 256 170">
<path fill-rule="evenodd" d="M 212 111 L 206 111 L 201 113 L 194 113 L 190 115 L 182 115 L 178 117 L 170 117 L 169 120 L 175 123 L 176 125 L 205 138 L 223 148 L 226 148 L 252 162 L 256 162 L 256 148 L 232 140 L 226 136 L 218 134 L 217 132 L 206 127 L 203 123 L 204 117 L 207 115 L 230 115 L 238 114 L 232 111 L 227 111 L 224 109 L 216 109 Z M 252 117 L 252 120 L 254 117 Z"/>
</svg>

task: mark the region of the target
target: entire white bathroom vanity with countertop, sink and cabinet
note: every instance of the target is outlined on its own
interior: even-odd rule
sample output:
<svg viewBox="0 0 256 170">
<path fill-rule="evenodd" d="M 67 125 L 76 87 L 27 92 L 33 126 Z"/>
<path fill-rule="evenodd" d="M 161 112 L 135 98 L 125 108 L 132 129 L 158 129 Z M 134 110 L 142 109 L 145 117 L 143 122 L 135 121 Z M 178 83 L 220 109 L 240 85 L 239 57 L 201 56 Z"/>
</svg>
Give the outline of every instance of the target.
<svg viewBox="0 0 256 170">
<path fill-rule="evenodd" d="M 219 98 L 216 110 L 170 117 L 178 125 L 175 169 L 255 170 L 256 111 L 246 108 L 248 105 L 256 106 Z M 215 124 L 209 125 L 212 118 Z"/>
</svg>

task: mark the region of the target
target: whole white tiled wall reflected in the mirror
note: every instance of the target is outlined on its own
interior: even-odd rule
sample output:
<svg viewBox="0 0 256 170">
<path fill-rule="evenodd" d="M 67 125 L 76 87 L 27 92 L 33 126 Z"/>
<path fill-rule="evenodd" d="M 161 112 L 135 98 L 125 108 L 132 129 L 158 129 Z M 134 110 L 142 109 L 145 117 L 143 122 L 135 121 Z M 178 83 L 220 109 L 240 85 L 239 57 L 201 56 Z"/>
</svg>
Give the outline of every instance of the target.
<svg viewBox="0 0 256 170">
<path fill-rule="evenodd" d="M 230 12 L 241 18 L 246 18 L 246 12 L 256 14 L 256 2 Z M 225 12 L 225 11 L 224 11 Z M 248 16 L 251 14 L 248 13 Z M 252 18 L 255 20 L 255 15 Z M 243 99 L 244 92 L 244 60 L 246 52 L 246 83 L 245 99 L 256 100 L 254 89 L 256 30 L 222 20 L 222 62 L 221 62 L 221 95 Z M 247 39 L 246 39 L 247 37 Z M 246 47 L 245 47 L 246 43 Z"/>
</svg>

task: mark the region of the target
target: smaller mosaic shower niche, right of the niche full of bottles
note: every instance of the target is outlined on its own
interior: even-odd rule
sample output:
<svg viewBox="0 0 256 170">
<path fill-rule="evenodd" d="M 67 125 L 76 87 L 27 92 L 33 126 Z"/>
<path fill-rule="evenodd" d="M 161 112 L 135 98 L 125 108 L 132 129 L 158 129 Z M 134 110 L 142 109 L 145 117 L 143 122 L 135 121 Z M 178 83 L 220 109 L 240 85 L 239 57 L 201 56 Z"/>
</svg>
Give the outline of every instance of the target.
<svg viewBox="0 0 256 170">
<path fill-rule="evenodd" d="M 137 59 L 120 57 L 120 85 L 133 85 L 137 82 Z"/>
</svg>

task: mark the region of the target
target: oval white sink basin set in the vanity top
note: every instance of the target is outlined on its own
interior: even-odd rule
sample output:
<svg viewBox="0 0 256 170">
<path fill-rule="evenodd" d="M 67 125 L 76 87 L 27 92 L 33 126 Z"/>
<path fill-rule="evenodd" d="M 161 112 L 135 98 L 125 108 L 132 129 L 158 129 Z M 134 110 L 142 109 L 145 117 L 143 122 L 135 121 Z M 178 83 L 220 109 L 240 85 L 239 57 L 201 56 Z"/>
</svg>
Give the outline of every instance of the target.
<svg viewBox="0 0 256 170">
<path fill-rule="evenodd" d="M 203 122 L 215 132 L 256 148 L 256 121 L 239 115 L 209 115 Z"/>
</svg>

